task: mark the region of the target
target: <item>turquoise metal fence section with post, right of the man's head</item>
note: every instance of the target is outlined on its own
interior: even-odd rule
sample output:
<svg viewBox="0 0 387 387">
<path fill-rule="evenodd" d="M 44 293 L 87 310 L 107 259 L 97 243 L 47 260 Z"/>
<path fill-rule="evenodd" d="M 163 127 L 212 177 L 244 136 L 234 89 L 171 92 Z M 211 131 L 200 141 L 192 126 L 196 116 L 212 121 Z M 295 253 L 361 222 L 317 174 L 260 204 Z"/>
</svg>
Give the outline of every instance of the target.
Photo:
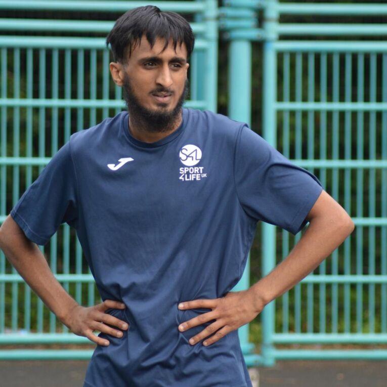
<svg viewBox="0 0 387 387">
<path fill-rule="evenodd" d="M 276 0 L 224 4 L 244 11 L 246 26 L 248 12 L 263 13 L 261 27 L 229 24 L 230 116 L 251 119 L 250 105 L 244 102 L 261 91 L 251 90 L 245 63 L 251 63 L 252 47 L 262 44 L 263 137 L 312 171 L 356 225 L 313 273 L 266 306 L 261 355 L 252 356 L 249 364 L 270 366 L 276 359 L 385 359 L 385 349 L 325 348 L 387 342 L 387 25 L 342 22 L 351 15 L 387 15 L 387 5 Z M 283 15 L 339 18 L 330 24 L 318 20 L 293 24 L 280 22 Z M 243 17 L 236 22 L 243 25 Z M 370 35 L 374 40 L 365 40 Z M 234 60 L 241 57 L 246 58 L 243 63 Z M 294 237 L 262 225 L 263 276 L 287 256 L 302 234 Z M 247 277 L 245 281 L 243 286 L 248 286 Z"/>
</svg>

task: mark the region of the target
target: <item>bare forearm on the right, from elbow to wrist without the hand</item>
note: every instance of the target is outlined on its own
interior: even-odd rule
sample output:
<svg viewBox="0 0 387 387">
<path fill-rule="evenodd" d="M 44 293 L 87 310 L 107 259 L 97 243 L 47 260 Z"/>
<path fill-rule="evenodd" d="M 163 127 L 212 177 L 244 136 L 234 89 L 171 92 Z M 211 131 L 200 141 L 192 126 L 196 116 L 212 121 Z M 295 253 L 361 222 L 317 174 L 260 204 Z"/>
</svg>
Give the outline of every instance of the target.
<svg viewBox="0 0 387 387">
<path fill-rule="evenodd" d="M 337 222 L 329 217 L 313 219 L 289 255 L 268 275 L 250 287 L 257 309 L 272 300 L 315 270 L 353 231 L 353 224 Z"/>
</svg>

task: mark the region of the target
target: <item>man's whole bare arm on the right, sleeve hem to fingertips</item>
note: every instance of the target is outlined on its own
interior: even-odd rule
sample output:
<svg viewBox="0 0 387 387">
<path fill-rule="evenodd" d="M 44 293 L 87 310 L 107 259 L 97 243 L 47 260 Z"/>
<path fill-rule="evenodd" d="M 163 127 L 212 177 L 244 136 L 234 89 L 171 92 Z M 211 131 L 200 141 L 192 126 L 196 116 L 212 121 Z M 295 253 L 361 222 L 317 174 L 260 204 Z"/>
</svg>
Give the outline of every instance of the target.
<svg viewBox="0 0 387 387">
<path fill-rule="evenodd" d="M 181 331 L 216 320 L 193 336 L 191 345 L 205 338 L 203 345 L 209 346 L 252 321 L 267 304 L 315 270 L 355 228 L 346 210 L 324 190 L 306 219 L 309 227 L 288 256 L 250 288 L 230 291 L 221 298 L 196 299 L 182 303 L 183 307 L 179 305 L 180 309 L 211 309 L 179 325 Z"/>
</svg>

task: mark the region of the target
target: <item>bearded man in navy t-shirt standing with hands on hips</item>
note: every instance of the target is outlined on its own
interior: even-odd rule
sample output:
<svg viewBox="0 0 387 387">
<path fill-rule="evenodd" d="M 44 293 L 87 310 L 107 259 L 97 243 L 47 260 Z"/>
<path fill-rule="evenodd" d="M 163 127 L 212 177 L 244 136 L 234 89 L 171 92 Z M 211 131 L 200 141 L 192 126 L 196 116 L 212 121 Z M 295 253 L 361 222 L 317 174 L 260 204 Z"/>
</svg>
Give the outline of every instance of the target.
<svg viewBox="0 0 387 387">
<path fill-rule="evenodd" d="M 354 224 L 313 174 L 247 124 L 182 108 L 194 47 L 183 17 L 140 7 L 107 42 L 127 111 L 71 136 L 12 209 L 1 247 L 58 318 L 97 343 L 85 387 L 251 386 L 237 329 Z M 275 270 L 230 292 L 258 221 L 292 234 L 310 225 Z M 102 304 L 78 305 L 35 244 L 64 222 L 76 229 Z"/>
</svg>

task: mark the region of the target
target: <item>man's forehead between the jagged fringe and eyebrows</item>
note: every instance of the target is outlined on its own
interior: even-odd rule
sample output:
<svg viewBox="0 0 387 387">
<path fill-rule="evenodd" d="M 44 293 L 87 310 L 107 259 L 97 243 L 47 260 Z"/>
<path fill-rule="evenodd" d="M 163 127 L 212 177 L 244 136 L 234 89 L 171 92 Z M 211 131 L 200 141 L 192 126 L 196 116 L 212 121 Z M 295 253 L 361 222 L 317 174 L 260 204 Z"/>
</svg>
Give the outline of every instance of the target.
<svg viewBox="0 0 387 387">
<path fill-rule="evenodd" d="M 148 39 L 145 35 L 142 36 L 141 40 L 136 44 L 134 48 L 132 48 L 132 54 L 131 57 L 134 58 L 140 58 L 142 56 L 160 56 L 160 57 L 167 57 L 167 56 L 180 56 L 183 58 L 187 58 L 187 48 L 184 42 L 179 42 L 176 45 L 176 51 L 174 48 L 174 41 L 173 39 L 169 39 L 168 46 L 165 48 L 163 52 L 161 52 L 164 49 L 165 46 L 165 39 L 157 37 L 155 40 L 155 43 L 153 47 L 151 47 Z"/>
</svg>

